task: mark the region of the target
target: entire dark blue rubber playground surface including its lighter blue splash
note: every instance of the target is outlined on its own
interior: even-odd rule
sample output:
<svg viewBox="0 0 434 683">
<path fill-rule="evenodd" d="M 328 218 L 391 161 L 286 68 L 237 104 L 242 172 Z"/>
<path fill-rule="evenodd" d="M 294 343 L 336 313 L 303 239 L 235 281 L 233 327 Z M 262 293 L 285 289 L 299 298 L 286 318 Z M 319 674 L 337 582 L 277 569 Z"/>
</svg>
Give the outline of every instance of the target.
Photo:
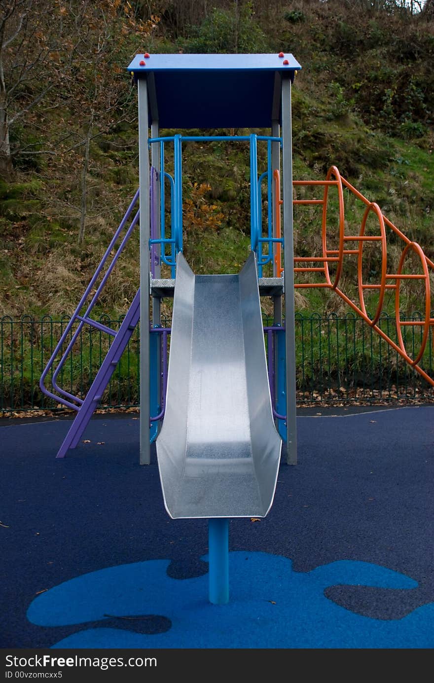
<svg viewBox="0 0 434 683">
<path fill-rule="evenodd" d="M 137 417 L 63 460 L 69 421 L 3 421 L 0 647 L 433 647 L 434 406 L 318 412 L 269 515 L 230 520 L 219 606 L 207 522 L 169 518 Z"/>
</svg>

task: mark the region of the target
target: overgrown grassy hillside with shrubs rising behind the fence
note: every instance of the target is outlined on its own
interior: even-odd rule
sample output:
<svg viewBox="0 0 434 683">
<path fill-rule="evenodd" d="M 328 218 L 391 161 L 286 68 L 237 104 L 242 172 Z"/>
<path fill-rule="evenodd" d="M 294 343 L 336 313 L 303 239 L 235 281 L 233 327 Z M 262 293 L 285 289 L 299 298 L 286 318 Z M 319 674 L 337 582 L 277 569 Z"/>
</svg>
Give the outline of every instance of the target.
<svg viewBox="0 0 434 683">
<path fill-rule="evenodd" d="M 366 24 L 360 18 L 351 33 L 348 17 L 327 13 L 327 8 L 312 10 L 295 22 L 284 19 L 282 13 L 268 21 L 263 26 L 269 41 L 267 50 L 292 51 L 303 65 L 293 90 L 294 177 L 322 179 L 327 168 L 336 164 L 344 177 L 366 197 L 377 201 L 393 223 L 434 257 L 432 122 L 424 121 L 421 128 L 403 129 L 399 120 L 389 130 L 381 124 L 381 117 L 376 119 L 362 96 L 369 90 L 372 97 L 375 94 L 380 98 L 378 87 L 372 85 L 375 69 L 377 79 L 387 76 L 392 83 L 398 76 L 402 79 L 405 64 L 398 65 L 399 73 L 393 70 L 394 66 L 398 68 L 398 25 L 390 27 L 386 41 L 384 21 Z M 165 50 L 167 44 L 161 44 L 161 50 Z M 360 50 L 355 53 L 357 44 Z M 159 51 L 158 38 L 154 39 L 153 51 Z M 422 54 L 421 64 L 423 59 Z M 420 120 L 418 116 L 413 111 L 415 120 Z M 404 114 L 402 121 L 406 121 Z M 54 118 L 52 125 L 55 128 Z M 68 158 L 45 162 L 38 158 L 33 167 L 18 171 L 18 182 L 0 183 L 0 316 L 59 316 L 74 309 L 135 191 L 135 143 L 134 126 L 124 126 L 94 141 L 89 172 L 92 210 L 85 244 L 80 247 L 79 219 L 74 208 L 79 204 L 77 173 L 70 169 Z M 246 152 L 242 145 L 226 143 L 189 145 L 185 149 L 185 254 L 198 273 L 234 272 L 247 255 Z M 201 194 L 202 184 L 211 187 Z M 331 209 L 334 204 L 331 197 Z M 363 207 L 349 198 L 349 234 L 357 233 L 362 214 Z M 331 242 L 334 221 L 331 211 Z M 375 221 L 370 229 L 377 229 Z M 318 210 L 297 209 L 295 230 L 296 253 L 320 255 Z M 366 277 L 375 281 L 379 255 L 371 251 L 368 255 L 366 249 Z M 392 240 L 393 264 L 400 251 Z M 125 311 L 137 288 L 137 238 L 131 240 L 126 255 L 101 303 L 100 311 L 110 315 Z M 355 267 L 348 264 L 344 283 L 352 291 Z M 411 296 L 409 305 L 417 307 L 418 292 Z M 389 296 L 385 305 L 390 308 L 392 304 Z M 265 303 L 265 309 L 267 306 Z M 332 311 L 340 310 L 340 302 L 321 290 L 303 290 L 303 295 L 297 296 L 297 307 L 306 312 Z"/>
</svg>

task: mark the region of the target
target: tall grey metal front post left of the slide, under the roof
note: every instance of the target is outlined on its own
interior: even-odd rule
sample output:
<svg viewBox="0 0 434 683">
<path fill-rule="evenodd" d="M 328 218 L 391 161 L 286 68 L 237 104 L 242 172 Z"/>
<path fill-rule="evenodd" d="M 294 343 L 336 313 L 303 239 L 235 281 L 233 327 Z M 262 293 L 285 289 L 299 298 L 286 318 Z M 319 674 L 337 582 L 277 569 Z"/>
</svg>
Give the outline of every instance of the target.
<svg viewBox="0 0 434 683">
<path fill-rule="evenodd" d="M 137 80 L 139 96 L 140 183 L 140 464 L 150 464 L 149 443 L 149 151 L 148 85 Z"/>
</svg>

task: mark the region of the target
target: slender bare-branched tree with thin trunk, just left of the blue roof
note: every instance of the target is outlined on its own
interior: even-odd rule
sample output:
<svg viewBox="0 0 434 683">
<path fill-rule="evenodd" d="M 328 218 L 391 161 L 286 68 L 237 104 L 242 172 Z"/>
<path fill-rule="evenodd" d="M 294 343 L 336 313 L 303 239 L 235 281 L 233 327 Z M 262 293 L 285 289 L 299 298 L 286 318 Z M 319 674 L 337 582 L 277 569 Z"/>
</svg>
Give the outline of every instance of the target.
<svg viewBox="0 0 434 683">
<path fill-rule="evenodd" d="M 88 215 L 91 143 L 123 120 L 136 117 L 135 93 L 119 66 L 121 55 L 126 56 L 131 34 L 147 38 L 158 19 L 140 20 L 130 3 L 119 0 L 81 3 L 78 8 L 70 2 L 68 12 L 76 27 L 77 47 L 71 76 L 64 81 L 64 99 L 71 113 L 69 130 L 74 143 L 70 149 L 81 148 L 83 152 L 77 207 L 81 243 Z"/>
</svg>

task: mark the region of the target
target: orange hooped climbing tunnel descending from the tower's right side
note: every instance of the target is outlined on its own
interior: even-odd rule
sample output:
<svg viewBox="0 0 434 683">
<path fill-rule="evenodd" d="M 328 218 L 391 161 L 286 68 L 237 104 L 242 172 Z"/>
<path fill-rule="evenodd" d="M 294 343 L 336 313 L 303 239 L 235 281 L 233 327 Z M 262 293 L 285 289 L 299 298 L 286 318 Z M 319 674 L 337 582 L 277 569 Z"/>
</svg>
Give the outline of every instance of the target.
<svg viewBox="0 0 434 683">
<path fill-rule="evenodd" d="M 280 237 L 280 206 L 282 200 L 280 199 L 280 177 L 278 171 L 274 171 L 273 180 L 276 237 Z M 434 325 L 434 318 L 431 318 L 430 283 L 430 275 L 434 273 L 433 261 L 426 256 L 422 247 L 417 242 L 410 240 L 392 221 L 385 217 L 378 204 L 366 199 L 348 180 L 342 178 L 336 166 L 330 167 L 325 180 L 294 180 L 293 186 L 295 190 L 294 206 L 310 206 L 312 208 L 318 206 L 321 210 L 321 255 L 295 255 L 295 288 L 328 288 L 336 292 L 416 372 L 434 386 L 434 379 L 419 365 L 429 339 L 429 328 Z M 297 191 L 301 188 L 322 190 L 322 196 L 297 198 Z M 332 213 L 329 211 L 329 205 L 331 204 L 329 197 L 330 189 L 336 189 L 337 202 L 334 200 L 336 211 L 333 215 L 329 216 L 329 213 Z M 347 199 L 347 204 L 354 199 L 364 204 L 364 213 L 358 232 L 349 232 L 348 224 L 350 221 L 347 221 L 345 216 L 345 199 Z M 367 227 L 368 221 L 369 229 Z M 372 221 L 375 225 L 373 230 Z M 331 228 L 333 225 L 334 229 Z M 372 232 L 375 234 L 371 234 Z M 394 272 L 390 271 L 388 262 L 388 246 L 390 244 L 393 244 L 395 253 L 397 245 L 402 246 L 401 257 Z M 377 255 L 379 255 L 381 266 L 377 269 L 375 277 L 370 277 L 369 281 L 364 281 L 364 254 L 368 245 L 378 245 L 379 252 L 377 252 Z M 346 291 L 348 289 L 347 279 L 342 277 L 344 266 L 349 264 L 350 260 L 353 260 L 353 270 L 356 268 L 357 272 L 357 303 L 353 301 L 354 296 L 349 295 Z M 277 276 L 280 277 L 282 275 L 282 255 L 279 242 L 276 242 L 275 245 L 274 262 Z M 299 281 L 301 275 L 305 276 L 304 281 Z M 307 281 L 306 278 L 308 279 Z M 422 320 L 401 320 L 400 294 L 405 281 L 418 281 L 421 285 L 424 299 L 421 308 L 423 311 Z M 375 312 L 370 314 L 366 308 L 365 297 L 368 293 L 372 292 L 377 294 L 377 302 Z M 385 334 L 379 324 L 377 324 L 381 311 L 383 311 L 386 292 L 394 292 L 397 343 Z M 415 352 L 410 353 L 405 347 L 403 335 L 403 327 L 405 326 L 422 326 L 420 347 Z"/>
</svg>

